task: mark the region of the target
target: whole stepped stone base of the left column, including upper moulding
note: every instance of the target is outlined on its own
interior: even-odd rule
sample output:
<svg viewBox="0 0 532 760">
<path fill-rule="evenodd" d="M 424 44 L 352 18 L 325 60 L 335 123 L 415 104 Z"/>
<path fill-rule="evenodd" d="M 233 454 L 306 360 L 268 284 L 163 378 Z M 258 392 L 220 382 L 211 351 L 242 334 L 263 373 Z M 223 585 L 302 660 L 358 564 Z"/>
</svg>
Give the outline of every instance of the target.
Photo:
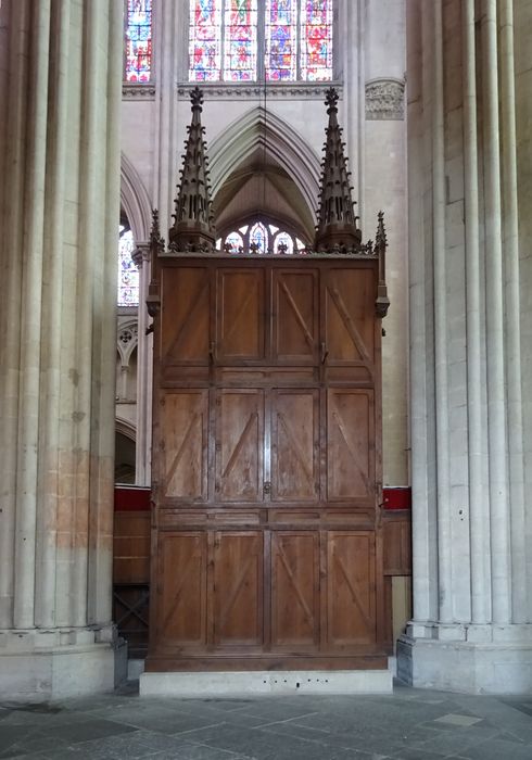
<svg viewBox="0 0 532 760">
<path fill-rule="evenodd" d="M 36 702 L 112 692 L 125 647 L 96 641 L 101 633 L 1 631 L 0 700 Z"/>
</svg>

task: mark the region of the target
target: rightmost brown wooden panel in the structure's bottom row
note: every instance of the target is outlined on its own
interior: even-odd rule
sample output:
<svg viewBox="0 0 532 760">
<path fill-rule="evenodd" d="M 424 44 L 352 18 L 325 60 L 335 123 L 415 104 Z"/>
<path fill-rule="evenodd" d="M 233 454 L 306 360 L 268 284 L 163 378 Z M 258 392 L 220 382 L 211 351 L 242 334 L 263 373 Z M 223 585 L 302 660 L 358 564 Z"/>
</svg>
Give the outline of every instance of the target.
<svg viewBox="0 0 532 760">
<path fill-rule="evenodd" d="M 327 638 L 331 647 L 376 641 L 373 542 L 371 533 L 328 532 Z"/>
</svg>

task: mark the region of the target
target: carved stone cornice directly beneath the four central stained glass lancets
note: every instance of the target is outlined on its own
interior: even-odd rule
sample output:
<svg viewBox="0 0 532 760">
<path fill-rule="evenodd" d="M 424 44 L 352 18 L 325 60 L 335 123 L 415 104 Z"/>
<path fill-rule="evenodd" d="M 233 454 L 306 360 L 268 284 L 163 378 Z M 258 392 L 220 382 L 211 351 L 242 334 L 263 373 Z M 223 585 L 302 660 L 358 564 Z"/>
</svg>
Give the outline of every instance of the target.
<svg viewBox="0 0 532 760">
<path fill-rule="evenodd" d="M 177 87 L 177 96 L 180 100 L 188 100 L 190 91 L 195 83 L 181 83 Z M 342 86 L 331 81 L 283 81 L 268 83 L 266 98 L 282 100 L 284 98 L 295 100 L 321 100 L 329 87 L 334 87 L 342 99 Z M 205 98 L 210 100 L 243 100 L 244 98 L 264 99 L 264 85 L 257 83 L 230 83 L 230 81 L 202 81 L 201 88 Z"/>
</svg>

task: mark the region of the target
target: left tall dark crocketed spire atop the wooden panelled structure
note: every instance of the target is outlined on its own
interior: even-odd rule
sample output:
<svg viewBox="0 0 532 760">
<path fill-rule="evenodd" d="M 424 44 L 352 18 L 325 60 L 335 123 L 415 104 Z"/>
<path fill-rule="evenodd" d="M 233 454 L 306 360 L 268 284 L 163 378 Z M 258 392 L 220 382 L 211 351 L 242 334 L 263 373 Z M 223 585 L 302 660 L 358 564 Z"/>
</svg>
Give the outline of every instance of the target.
<svg viewBox="0 0 532 760">
<path fill-rule="evenodd" d="M 199 87 L 190 93 L 192 122 L 187 127 L 185 155 L 175 200 L 174 225 L 169 229 L 169 248 L 175 251 L 211 251 L 216 231 L 213 223 L 205 128 L 201 124 L 203 93 Z"/>
</svg>

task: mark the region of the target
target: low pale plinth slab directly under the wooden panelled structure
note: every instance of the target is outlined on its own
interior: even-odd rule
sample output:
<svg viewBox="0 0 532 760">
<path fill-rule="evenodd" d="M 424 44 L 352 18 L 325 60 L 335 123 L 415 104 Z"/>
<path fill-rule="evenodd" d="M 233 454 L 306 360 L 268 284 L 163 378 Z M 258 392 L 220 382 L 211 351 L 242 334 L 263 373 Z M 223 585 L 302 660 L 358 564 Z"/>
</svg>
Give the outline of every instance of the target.
<svg viewBox="0 0 532 760">
<path fill-rule="evenodd" d="M 391 694 L 390 670 L 142 673 L 140 696 Z"/>
</svg>

